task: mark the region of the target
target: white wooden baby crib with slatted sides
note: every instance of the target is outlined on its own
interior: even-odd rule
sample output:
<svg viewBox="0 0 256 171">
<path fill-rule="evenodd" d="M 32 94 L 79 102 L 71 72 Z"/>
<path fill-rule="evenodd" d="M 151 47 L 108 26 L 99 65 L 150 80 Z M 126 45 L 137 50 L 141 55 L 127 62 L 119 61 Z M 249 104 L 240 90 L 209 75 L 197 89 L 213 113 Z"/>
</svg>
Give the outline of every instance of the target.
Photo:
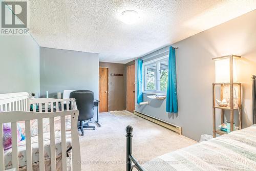
<svg viewBox="0 0 256 171">
<path fill-rule="evenodd" d="M 64 102 L 67 108 L 64 108 Z M 33 111 L 30 112 L 30 105 L 33 105 Z M 54 108 L 55 106 L 55 108 Z M 55 130 L 54 118 L 60 117 L 61 144 L 66 144 L 66 116 L 71 116 L 71 141 L 72 141 L 72 170 L 81 170 L 80 165 L 80 144 L 77 131 L 77 119 L 79 112 L 76 108 L 75 99 L 30 99 L 28 93 L 10 93 L 0 94 L 0 170 L 5 170 L 5 156 L 3 146 L 3 124 L 11 122 L 11 129 L 17 130 L 17 122 L 25 121 L 26 133 L 26 156 L 27 170 L 32 171 L 32 147 L 31 147 L 31 120 L 37 119 L 38 126 L 38 152 L 39 152 L 39 170 L 45 170 L 44 154 L 44 131 L 43 119 L 49 118 L 50 122 L 50 159 L 51 170 L 56 170 L 55 153 Z M 61 145 L 62 170 L 67 170 L 66 145 Z M 18 141 L 17 132 L 12 131 L 12 168 L 18 170 Z"/>
</svg>

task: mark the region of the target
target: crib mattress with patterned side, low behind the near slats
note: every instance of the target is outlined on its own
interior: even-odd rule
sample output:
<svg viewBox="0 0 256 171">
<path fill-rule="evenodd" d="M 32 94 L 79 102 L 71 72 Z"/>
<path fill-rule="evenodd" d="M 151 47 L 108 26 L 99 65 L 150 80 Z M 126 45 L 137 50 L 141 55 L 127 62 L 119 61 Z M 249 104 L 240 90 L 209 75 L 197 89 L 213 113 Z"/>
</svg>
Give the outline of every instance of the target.
<svg viewBox="0 0 256 171">
<path fill-rule="evenodd" d="M 55 131 L 55 146 L 56 146 L 56 158 L 60 158 L 61 156 L 61 133 L 60 131 Z M 45 160 L 49 160 L 51 158 L 50 154 L 50 134 L 44 134 L 44 145 L 45 145 Z M 38 136 L 31 137 L 32 141 L 32 162 L 36 163 L 39 161 L 39 152 L 38 152 Z M 71 131 L 66 131 L 66 146 L 67 149 L 71 147 Z M 66 155 L 66 152 L 65 152 Z M 27 164 L 26 157 L 26 141 L 21 141 L 18 144 L 18 164 L 19 167 L 26 166 Z M 7 149 L 5 151 L 5 169 L 12 168 L 12 149 Z"/>
</svg>

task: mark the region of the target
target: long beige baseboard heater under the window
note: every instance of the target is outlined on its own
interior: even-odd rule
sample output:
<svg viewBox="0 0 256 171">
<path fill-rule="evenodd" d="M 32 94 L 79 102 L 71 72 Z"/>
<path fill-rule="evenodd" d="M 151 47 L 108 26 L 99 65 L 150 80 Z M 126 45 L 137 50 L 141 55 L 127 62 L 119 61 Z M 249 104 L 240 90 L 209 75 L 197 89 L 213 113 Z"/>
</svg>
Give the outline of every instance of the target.
<svg viewBox="0 0 256 171">
<path fill-rule="evenodd" d="M 154 123 L 156 123 L 158 125 L 166 127 L 167 129 L 172 130 L 172 131 L 174 131 L 174 132 L 176 132 L 176 133 L 181 135 L 181 127 L 180 126 L 176 126 L 174 124 L 167 123 L 167 122 L 165 122 L 163 120 L 157 119 L 157 118 L 155 118 L 153 116 L 149 116 L 149 115 L 146 115 L 146 114 L 138 112 L 138 111 L 134 111 L 134 114 L 139 116 L 139 117 L 142 117 L 142 118 L 144 118 L 146 120 L 154 122 Z"/>
</svg>

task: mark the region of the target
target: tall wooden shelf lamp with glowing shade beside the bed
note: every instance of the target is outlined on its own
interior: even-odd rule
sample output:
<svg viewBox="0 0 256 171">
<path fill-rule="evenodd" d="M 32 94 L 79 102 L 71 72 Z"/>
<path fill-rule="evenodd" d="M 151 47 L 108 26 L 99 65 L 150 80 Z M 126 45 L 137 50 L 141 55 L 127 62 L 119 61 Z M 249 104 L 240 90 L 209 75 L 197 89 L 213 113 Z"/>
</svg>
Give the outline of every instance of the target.
<svg viewBox="0 0 256 171">
<path fill-rule="evenodd" d="M 215 83 L 212 84 L 212 116 L 213 116 L 213 136 L 223 135 L 226 132 L 216 130 L 216 109 L 221 109 L 221 124 L 225 120 L 225 110 L 230 112 L 229 126 L 230 132 L 234 130 L 234 110 L 239 113 L 239 129 L 241 129 L 242 106 L 241 106 L 241 83 L 237 82 L 236 59 L 237 55 L 227 55 L 213 58 L 215 61 Z M 216 86 L 220 86 L 220 100 L 216 99 Z M 224 90 L 226 89 L 226 90 Z M 229 92 L 228 92 L 229 89 Z M 225 92 L 225 93 L 224 93 Z M 216 105 L 217 104 L 217 105 Z M 227 105 L 227 106 L 226 106 Z M 228 126 L 227 126 L 228 127 Z"/>
</svg>

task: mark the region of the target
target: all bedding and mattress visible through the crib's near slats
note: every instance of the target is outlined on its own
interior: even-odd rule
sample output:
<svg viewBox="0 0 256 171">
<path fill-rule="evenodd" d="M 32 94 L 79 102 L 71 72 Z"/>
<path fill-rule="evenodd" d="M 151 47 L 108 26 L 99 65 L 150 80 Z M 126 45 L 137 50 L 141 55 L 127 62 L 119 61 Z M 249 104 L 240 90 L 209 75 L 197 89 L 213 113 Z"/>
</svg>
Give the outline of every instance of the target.
<svg viewBox="0 0 256 171">
<path fill-rule="evenodd" d="M 49 119 L 44 119 L 44 146 L 45 146 L 45 165 L 47 166 L 51 165 L 50 160 L 50 130 L 49 130 Z M 57 168 L 58 165 L 61 166 L 61 164 L 58 164 L 57 161 L 61 163 L 61 132 L 60 132 L 60 118 L 55 118 L 55 146 L 56 146 L 56 163 Z M 25 129 L 25 124 L 23 125 L 23 122 L 19 123 L 20 127 L 22 129 Z M 67 150 L 71 147 L 71 123 L 68 118 L 66 118 L 66 146 Z M 25 132 L 25 131 L 23 131 Z M 31 137 L 32 142 L 32 162 L 33 162 L 33 170 L 36 170 L 38 167 L 38 161 L 39 161 L 39 152 L 38 152 L 38 135 L 37 135 L 37 120 L 31 121 L 31 134 L 33 135 Z M 65 152 L 65 155 L 67 153 Z M 19 170 L 23 170 L 26 168 L 26 140 L 20 141 L 18 143 L 18 163 L 19 163 Z M 5 169 L 12 168 L 12 149 L 7 149 L 5 151 Z M 25 169 L 26 170 L 26 169 Z M 46 169 L 47 170 L 47 169 Z"/>
</svg>

